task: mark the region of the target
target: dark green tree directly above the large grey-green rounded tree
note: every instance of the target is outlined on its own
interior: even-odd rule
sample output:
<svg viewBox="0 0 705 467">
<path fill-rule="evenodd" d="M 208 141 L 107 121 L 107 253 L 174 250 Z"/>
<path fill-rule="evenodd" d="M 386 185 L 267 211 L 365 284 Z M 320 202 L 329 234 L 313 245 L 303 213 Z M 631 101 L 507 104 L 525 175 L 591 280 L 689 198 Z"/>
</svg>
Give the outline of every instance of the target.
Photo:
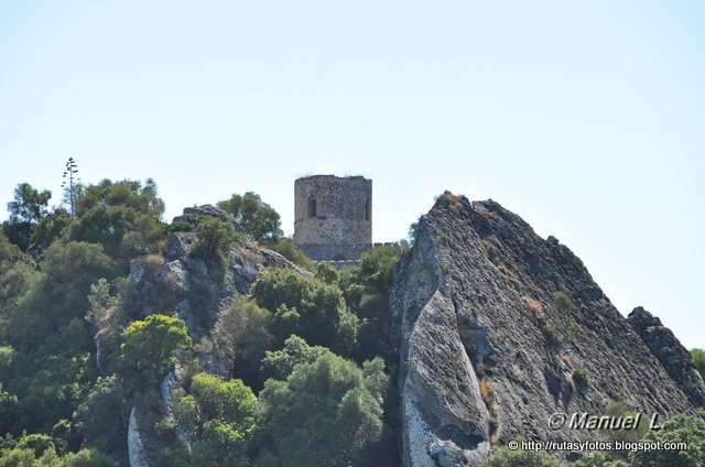
<svg viewBox="0 0 705 467">
<path fill-rule="evenodd" d="M 308 279 L 296 271 L 264 271 L 252 286 L 260 306 L 273 312 L 272 333 L 279 345 L 295 334 L 314 345 L 349 355 L 357 339 L 359 321 L 345 306 L 335 284 Z"/>
</svg>

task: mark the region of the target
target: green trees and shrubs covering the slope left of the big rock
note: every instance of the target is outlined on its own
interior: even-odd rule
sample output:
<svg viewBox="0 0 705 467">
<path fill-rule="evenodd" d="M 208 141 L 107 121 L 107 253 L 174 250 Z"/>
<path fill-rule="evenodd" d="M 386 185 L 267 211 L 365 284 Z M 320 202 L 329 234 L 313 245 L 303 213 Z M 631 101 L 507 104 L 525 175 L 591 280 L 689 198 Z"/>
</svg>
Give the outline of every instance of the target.
<svg viewBox="0 0 705 467">
<path fill-rule="evenodd" d="M 73 195 L 50 209 L 19 185 L 0 232 L 0 465 L 127 465 L 133 409 L 155 465 L 399 464 L 388 295 L 406 245 L 314 268 L 253 193 L 172 224 L 153 181 Z M 188 282 L 165 272 L 173 238 L 193 239 Z M 224 295 L 264 247 L 293 263 Z"/>
</svg>

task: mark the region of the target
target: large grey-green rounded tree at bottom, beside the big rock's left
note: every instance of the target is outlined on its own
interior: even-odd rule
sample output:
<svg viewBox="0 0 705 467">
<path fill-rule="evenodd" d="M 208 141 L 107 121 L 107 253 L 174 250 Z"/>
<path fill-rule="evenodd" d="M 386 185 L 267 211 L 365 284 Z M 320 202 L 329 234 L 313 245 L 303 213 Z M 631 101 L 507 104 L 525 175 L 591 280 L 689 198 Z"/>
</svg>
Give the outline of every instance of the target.
<svg viewBox="0 0 705 467">
<path fill-rule="evenodd" d="M 356 464 L 382 433 L 386 377 L 379 365 L 370 371 L 328 351 L 296 365 L 285 381 L 268 380 L 260 393 L 269 443 L 262 456 L 285 466 Z"/>
</svg>

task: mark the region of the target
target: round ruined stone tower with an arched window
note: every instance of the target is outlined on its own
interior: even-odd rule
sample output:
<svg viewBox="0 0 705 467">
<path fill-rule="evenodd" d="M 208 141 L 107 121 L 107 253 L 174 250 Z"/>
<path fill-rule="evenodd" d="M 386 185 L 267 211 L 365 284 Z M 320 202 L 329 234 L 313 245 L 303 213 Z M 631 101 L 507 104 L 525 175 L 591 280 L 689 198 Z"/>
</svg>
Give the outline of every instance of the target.
<svg viewBox="0 0 705 467">
<path fill-rule="evenodd" d="M 294 241 L 315 261 L 357 260 L 372 248 L 372 181 L 313 175 L 294 182 Z"/>
</svg>

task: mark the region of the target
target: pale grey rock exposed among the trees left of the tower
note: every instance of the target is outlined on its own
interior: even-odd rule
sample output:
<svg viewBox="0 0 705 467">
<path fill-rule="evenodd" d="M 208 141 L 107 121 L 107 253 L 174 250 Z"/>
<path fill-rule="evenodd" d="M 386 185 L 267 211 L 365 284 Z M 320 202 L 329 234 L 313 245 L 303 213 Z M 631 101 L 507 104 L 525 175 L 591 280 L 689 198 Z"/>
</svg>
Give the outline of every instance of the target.
<svg viewBox="0 0 705 467">
<path fill-rule="evenodd" d="M 174 221 L 196 226 L 204 216 L 214 217 L 239 228 L 232 216 L 210 205 L 185 208 L 184 215 L 176 217 Z M 198 236 L 195 231 L 177 231 L 169 239 L 166 262 L 161 265 L 158 274 L 150 274 L 143 261 L 134 260 L 130 264 L 130 279 L 135 284 L 140 302 L 150 304 L 159 301 L 160 295 L 164 293 L 163 287 L 159 286 L 160 282 L 169 283 L 172 287 L 183 291 L 183 300 L 176 305 L 177 317 L 186 323 L 188 335 L 195 341 L 212 337 L 208 332 L 212 324 L 219 323 L 221 314 L 230 305 L 234 296 L 247 293 L 258 274 L 265 269 L 291 269 L 303 276 L 313 276 L 311 272 L 299 268 L 278 252 L 251 243 L 231 248 L 228 251 L 228 268 L 224 272 L 217 264 L 191 254 L 197 245 Z M 199 293 L 194 293 L 198 289 L 200 289 Z M 143 315 L 151 313 L 153 311 L 149 305 L 142 309 Z M 98 349 L 100 349 L 99 337 L 96 340 Z M 229 376 L 225 363 L 226 356 L 217 343 L 202 346 L 196 356 L 204 370 L 219 377 Z M 177 365 L 161 383 L 164 415 L 171 420 L 174 420 L 174 394 L 183 391 L 186 383 L 183 372 Z M 163 446 L 159 439 L 155 439 L 152 430 L 143 430 L 143 426 L 150 425 L 141 421 L 143 419 L 141 413 L 145 411 L 147 409 L 139 403 L 130 411 L 127 441 L 131 467 L 160 465 L 159 453 Z M 191 449 L 193 439 L 183 430 L 177 427 L 176 436 L 182 445 Z"/>
</svg>

